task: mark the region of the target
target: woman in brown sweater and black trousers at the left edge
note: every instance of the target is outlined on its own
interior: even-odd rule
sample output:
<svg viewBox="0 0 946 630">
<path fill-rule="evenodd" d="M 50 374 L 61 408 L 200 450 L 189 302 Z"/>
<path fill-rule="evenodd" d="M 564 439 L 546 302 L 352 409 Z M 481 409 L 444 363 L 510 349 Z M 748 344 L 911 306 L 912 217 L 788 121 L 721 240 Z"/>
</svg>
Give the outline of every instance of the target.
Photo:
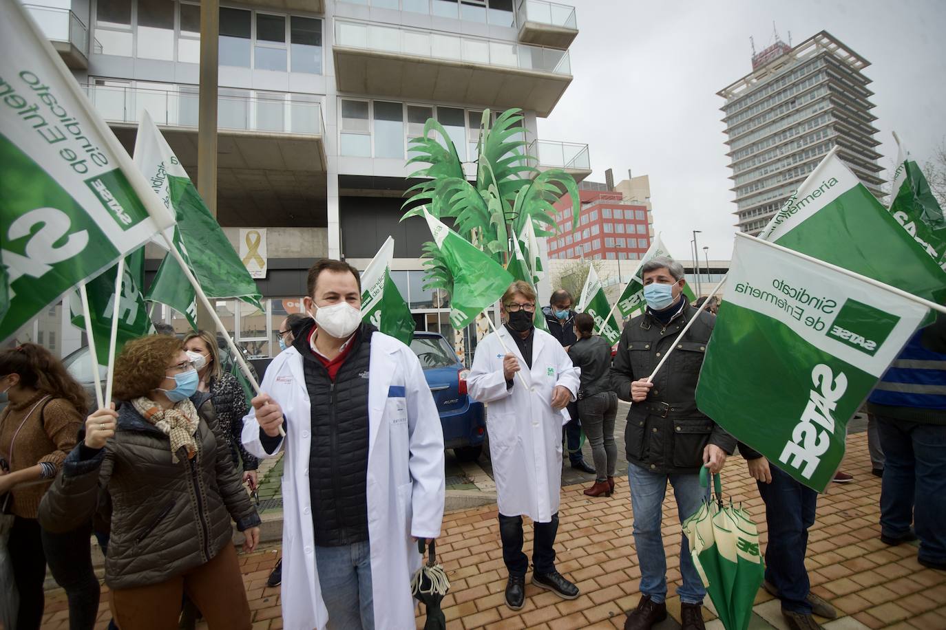
<svg viewBox="0 0 946 630">
<path fill-rule="evenodd" d="M 76 523 L 72 532 L 53 534 L 37 519 L 44 493 L 76 446 L 88 409 L 85 392 L 56 357 L 36 344 L 0 352 L 0 392 L 9 399 L 0 414 L 0 456 L 5 461 L 0 469 L 0 508 L 13 514 L 8 545 L 20 593 L 16 628 L 40 627 L 48 560 L 69 598 L 70 627 L 91 629 L 99 595 L 89 551 L 92 521 Z"/>
</svg>

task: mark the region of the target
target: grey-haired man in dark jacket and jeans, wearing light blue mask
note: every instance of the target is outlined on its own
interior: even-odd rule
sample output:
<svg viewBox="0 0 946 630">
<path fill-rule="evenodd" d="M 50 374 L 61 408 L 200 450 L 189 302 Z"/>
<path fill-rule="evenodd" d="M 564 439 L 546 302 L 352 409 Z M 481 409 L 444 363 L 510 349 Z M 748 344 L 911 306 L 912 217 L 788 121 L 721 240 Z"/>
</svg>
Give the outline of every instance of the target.
<svg viewBox="0 0 946 630">
<path fill-rule="evenodd" d="M 611 385 L 622 400 L 631 400 L 624 445 L 634 510 L 634 540 L 640 565 L 642 597 L 627 618 L 626 630 L 649 630 L 667 617 L 667 560 L 660 536 L 661 506 L 667 482 L 674 486 L 680 521 L 699 508 L 707 489 L 699 470 L 723 468 L 736 440 L 696 409 L 696 381 L 715 316 L 697 313 L 683 295 L 683 266 L 667 257 L 643 264 L 647 311 L 624 326 L 611 369 Z M 698 317 L 682 337 L 692 317 Z M 673 355 L 648 382 L 670 349 Z M 680 543 L 677 589 L 684 630 L 702 630 L 700 608 L 706 589 L 693 567 L 687 536 Z"/>
</svg>

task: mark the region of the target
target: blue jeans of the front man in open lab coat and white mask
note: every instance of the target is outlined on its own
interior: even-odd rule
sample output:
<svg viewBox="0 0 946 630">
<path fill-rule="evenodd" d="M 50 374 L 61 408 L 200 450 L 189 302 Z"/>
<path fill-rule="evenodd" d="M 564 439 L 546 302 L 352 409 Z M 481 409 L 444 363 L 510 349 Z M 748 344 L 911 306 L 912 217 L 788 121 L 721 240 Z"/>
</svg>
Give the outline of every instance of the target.
<svg viewBox="0 0 946 630">
<path fill-rule="evenodd" d="M 322 601 L 333 630 L 374 630 L 371 548 L 368 541 L 342 547 L 316 547 Z"/>
</svg>

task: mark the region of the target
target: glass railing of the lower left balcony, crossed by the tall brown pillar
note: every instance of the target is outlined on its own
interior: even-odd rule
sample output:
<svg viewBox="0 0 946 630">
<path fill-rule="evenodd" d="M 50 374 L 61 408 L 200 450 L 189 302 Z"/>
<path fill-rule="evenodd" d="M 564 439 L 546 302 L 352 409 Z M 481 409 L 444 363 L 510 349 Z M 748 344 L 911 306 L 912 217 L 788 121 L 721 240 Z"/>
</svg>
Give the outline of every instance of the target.
<svg viewBox="0 0 946 630">
<path fill-rule="evenodd" d="M 147 110 L 157 125 L 197 128 L 198 87 L 167 90 L 114 85 L 84 85 L 96 110 L 110 123 L 137 124 Z M 221 89 L 222 91 L 222 89 Z M 324 136 L 322 105 L 315 94 L 219 94 L 219 129 Z"/>
</svg>

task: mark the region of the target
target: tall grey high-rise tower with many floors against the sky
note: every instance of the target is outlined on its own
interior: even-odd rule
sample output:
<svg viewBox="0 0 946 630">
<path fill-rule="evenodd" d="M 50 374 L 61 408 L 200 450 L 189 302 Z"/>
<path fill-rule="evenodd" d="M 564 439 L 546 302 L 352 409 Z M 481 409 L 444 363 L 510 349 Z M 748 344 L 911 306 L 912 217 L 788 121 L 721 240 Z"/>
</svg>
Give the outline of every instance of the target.
<svg viewBox="0 0 946 630">
<path fill-rule="evenodd" d="M 777 40 L 752 72 L 720 90 L 737 226 L 756 235 L 834 145 L 875 196 L 884 180 L 870 111 L 870 62 L 821 31 L 797 46 Z"/>
</svg>

